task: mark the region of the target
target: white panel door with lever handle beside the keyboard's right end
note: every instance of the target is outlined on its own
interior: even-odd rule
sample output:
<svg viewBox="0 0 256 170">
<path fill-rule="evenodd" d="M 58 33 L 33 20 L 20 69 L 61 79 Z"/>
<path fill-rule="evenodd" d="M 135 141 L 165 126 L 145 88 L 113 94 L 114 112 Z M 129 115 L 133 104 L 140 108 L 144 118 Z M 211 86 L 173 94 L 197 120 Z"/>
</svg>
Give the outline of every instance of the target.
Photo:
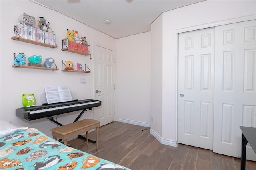
<svg viewBox="0 0 256 170">
<path fill-rule="evenodd" d="M 114 51 L 94 45 L 94 93 L 101 101 L 94 108 L 94 119 L 100 126 L 114 121 Z"/>
</svg>

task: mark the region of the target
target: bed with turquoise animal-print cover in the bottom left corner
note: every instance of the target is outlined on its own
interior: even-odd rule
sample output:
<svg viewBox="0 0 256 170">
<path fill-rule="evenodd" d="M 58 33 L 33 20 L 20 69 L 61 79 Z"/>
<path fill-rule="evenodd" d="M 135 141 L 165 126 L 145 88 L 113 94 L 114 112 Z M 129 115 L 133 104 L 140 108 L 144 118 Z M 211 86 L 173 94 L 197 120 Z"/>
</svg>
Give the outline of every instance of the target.
<svg viewBox="0 0 256 170">
<path fill-rule="evenodd" d="M 0 167 L 13 170 L 129 170 L 68 147 L 36 128 L 1 120 Z"/>
</svg>

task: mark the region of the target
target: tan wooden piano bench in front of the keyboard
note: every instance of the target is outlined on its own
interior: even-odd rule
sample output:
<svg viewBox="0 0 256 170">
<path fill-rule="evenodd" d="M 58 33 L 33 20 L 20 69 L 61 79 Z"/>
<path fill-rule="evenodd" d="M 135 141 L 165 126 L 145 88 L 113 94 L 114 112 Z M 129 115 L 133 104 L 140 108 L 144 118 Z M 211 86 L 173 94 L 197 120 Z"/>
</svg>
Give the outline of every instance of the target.
<svg viewBox="0 0 256 170">
<path fill-rule="evenodd" d="M 99 127 L 100 121 L 93 119 L 84 119 L 60 127 L 55 127 L 51 129 L 51 131 L 53 139 L 57 140 L 57 137 L 59 139 L 62 139 L 64 145 L 68 145 L 69 138 L 86 132 L 86 143 L 88 146 L 88 131 L 96 129 L 96 149 L 98 150 Z"/>
</svg>

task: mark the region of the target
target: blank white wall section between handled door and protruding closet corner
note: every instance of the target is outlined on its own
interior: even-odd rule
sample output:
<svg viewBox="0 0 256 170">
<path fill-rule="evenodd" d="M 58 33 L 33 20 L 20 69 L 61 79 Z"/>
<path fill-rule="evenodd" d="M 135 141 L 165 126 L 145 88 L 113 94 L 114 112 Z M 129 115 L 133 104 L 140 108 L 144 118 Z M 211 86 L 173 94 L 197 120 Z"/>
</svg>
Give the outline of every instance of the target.
<svg viewBox="0 0 256 170">
<path fill-rule="evenodd" d="M 150 127 L 150 32 L 116 39 L 117 121 Z"/>
</svg>

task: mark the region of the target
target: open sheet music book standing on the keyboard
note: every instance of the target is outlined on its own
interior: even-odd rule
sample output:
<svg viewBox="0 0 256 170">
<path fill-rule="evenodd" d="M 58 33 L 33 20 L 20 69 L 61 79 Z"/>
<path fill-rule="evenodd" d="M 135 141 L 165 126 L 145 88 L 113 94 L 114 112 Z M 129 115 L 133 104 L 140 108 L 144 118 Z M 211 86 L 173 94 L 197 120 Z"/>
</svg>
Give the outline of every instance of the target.
<svg viewBox="0 0 256 170">
<path fill-rule="evenodd" d="M 68 86 L 46 86 L 44 90 L 48 104 L 72 101 Z"/>
</svg>

